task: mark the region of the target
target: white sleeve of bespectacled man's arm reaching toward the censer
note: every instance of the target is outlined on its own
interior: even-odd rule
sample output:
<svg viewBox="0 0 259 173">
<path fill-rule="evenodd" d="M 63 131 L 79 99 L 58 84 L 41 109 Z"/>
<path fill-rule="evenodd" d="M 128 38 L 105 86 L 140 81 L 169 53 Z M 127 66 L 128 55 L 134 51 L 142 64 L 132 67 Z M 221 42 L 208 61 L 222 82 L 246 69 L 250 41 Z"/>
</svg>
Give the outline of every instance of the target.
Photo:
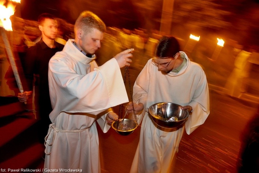
<svg viewBox="0 0 259 173">
<path fill-rule="evenodd" d="M 143 103 L 143 111 L 138 113 L 138 124 L 143 119 L 147 107 L 147 90 L 150 81 L 149 62 L 144 66 L 133 86 L 133 102 L 136 104 Z"/>
</svg>

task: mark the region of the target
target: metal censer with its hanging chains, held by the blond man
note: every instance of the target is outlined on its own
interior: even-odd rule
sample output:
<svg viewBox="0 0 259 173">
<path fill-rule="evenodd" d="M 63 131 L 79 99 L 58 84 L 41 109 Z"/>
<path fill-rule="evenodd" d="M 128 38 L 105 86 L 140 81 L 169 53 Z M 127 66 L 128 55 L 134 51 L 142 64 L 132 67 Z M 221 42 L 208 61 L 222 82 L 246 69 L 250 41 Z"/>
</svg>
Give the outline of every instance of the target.
<svg viewBox="0 0 259 173">
<path fill-rule="evenodd" d="M 131 97 L 131 102 L 132 102 L 132 107 L 134 110 L 134 105 L 133 105 L 133 94 L 131 92 L 131 85 L 130 85 L 130 74 L 129 74 L 129 67 L 125 67 L 125 72 L 124 72 L 124 77 L 123 77 L 123 82 L 125 83 L 126 75 L 128 76 L 128 81 L 129 81 L 129 89 L 130 89 L 130 97 Z M 138 126 L 138 118 L 134 113 L 134 118 L 135 121 L 132 119 L 127 119 L 125 118 L 126 115 L 128 114 L 127 109 L 125 110 L 125 115 L 123 116 L 123 104 L 119 105 L 119 119 L 115 122 L 112 122 L 112 128 L 119 133 L 120 135 L 126 136 L 131 133 L 137 128 Z"/>
</svg>

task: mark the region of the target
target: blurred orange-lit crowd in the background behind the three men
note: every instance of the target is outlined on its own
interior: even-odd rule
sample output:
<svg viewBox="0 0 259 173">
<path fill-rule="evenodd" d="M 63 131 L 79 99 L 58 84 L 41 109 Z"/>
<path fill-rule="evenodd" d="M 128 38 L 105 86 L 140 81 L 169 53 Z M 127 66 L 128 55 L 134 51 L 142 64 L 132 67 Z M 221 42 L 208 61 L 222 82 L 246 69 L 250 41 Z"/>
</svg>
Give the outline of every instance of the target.
<svg viewBox="0 0 259 173">
<path fill-rule="evenodd" d="M 19 17 L 11 17 L 13 32 L 8 32 L 9 41 L 13 48 L 18 66 L 23 66 L 23 60 L 27 48 L 31 47 L 40 38 L 40 31 L 36 21 L 25 20 Z M 57 42 L 64 43 L 69 38 L 74 38 L 74 25 L 64 19 L 58 19 L 59 34 Z M 158 30 L 137 28 L 128 30 L 125 28 L 107 27 L 102 48 L 96 52 L 96 62 L 102 65 L 108 59 L 127 48 L 134 48 L 133 63 L 130 70 L 132 85 L 140 70 L 147 60 L 154 56 L 158 40 L 162 37 Z M 223 92 L 233 97 L 240 97 L 242 93 L 249 92 L 259 96 L 256 85 L 259 80 L 258 45 L 240 45 L 237 41 L 227 39 L 224 47 L 219 48 L 216 43 L 216 35 L 207 35 L 199 42 L 174 35 L 180 43 L 181 50 L 185 51 L 190 59 L 203 66 L 208 83 L 219 86 Z M 214 39 L 214 40 L 213 40 Z M 12 70 L 5 55 L 5 45 L 0 39 L 0 96 L 14 96 L 17 93 L 16 81 L 10 74 Z M 215 52 L 218 51 L 215 57 Z M 213 55 L 214 54 L 214 55 Z M 19 68 L 22 76 L 22 68 Z M 239 75 L 239 74 L 242 75 Z M 8 77 L 9 76 L 9 77 Z M 7 79 L 9 80 L 7 82 Z"/>
</svg>

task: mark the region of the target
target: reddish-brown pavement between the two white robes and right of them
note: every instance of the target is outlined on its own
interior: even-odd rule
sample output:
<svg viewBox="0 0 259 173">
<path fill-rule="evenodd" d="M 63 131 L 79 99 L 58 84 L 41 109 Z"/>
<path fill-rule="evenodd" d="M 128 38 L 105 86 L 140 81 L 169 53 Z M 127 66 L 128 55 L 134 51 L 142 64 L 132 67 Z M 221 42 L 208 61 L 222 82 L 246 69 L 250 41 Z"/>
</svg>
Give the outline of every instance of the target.
<svg viewBox="0 0 259 173">
<path fill-rule="evenodd" d="M 175 173 L 237 172 L 240 136 L 257 106 L 256 102 L 210 90 L 210 115 L 190 135 L 184 134 L 176 157 Z M 103 172 L 129 172 L 140 128 L 129 136 L 121 136 L 113 129 L 102 133 L 98 128 Z"/>
</svg>

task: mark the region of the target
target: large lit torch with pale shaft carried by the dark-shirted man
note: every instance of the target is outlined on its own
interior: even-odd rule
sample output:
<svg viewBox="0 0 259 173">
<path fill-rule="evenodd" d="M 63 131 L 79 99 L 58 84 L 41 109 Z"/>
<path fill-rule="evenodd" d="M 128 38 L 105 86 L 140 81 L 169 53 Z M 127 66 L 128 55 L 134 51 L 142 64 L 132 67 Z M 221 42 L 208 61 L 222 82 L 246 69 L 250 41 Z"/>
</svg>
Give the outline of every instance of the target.
<svg viewBox="0 0 259 173">
<path fill-rule="evenodd" d="M 13 1 L 20 3 L 18 0 L 13 0 Z M 22 93 L 23 92 L 22 82 L 21 82 L 21 79 L 20 79 L 20 76 L 19 76 L 19 73 L 17 70 L 17 66 L 16 66 L 16 63 L 14 60 L 14 56 L 12 53 L 12 49 L 11 49 L 9 40 L 6 35 L 6 31 L 12 31 L 12 22 L 10 20 L 10 16 L 12 16 L 14 14 L 15 6 L 12 3 L 8 3 L 7 7 L 5 7 L 3 5 L 4 4 L 3 2 L 5 2 L 5 1 L 2 1 L 2 3 L 0 3 L 0 11 L 1 11 L 1 13 L 0 13 L 0 32 L 1 32 L 2 39 L 5 44 L 5 49 L 6 49 L 8 58 L 10 60 L 12 71 L 14 73 L 19 91 Z M 27 102 L 24 102 L 24 103 L 27 104 Z"/>
</svg>

